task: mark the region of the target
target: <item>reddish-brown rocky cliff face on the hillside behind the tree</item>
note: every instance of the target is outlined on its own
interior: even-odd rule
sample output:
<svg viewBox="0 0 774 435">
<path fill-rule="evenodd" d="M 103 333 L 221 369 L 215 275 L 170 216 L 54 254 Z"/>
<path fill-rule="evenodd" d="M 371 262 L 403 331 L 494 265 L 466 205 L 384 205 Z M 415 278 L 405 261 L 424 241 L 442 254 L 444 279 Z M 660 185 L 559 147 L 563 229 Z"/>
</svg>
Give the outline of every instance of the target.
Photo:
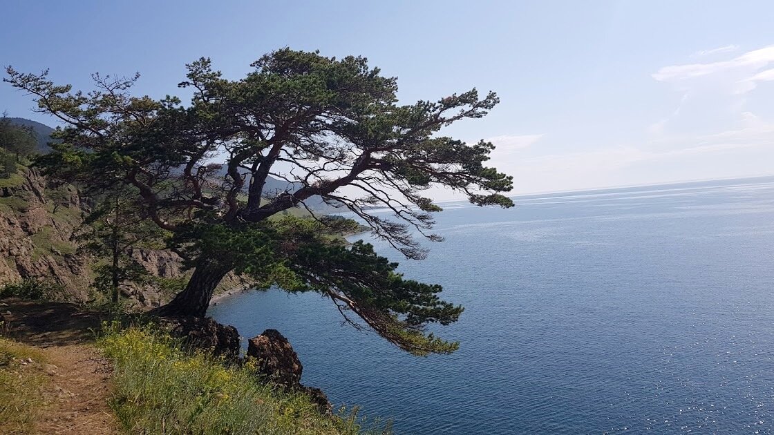
<svg viewBox="0 0 774 435">
<path fill-rule="evenodd" d="M 0 187 L 0 285 L 20 279 L 50 279 L 67 289 L 71 300 L 89 298 L 94 260 L 77 252 L 72 240 L 91 206 L 72 186 L 53 188 L 37 170 L 26 169 L 17 181 Z M 160 249 L 129 252 L 153 276 L 183 275 L 180 257 Z M 166 302 L 156 286 L 126 286 L 130 305 L 158 307 Z"/>
</svg>

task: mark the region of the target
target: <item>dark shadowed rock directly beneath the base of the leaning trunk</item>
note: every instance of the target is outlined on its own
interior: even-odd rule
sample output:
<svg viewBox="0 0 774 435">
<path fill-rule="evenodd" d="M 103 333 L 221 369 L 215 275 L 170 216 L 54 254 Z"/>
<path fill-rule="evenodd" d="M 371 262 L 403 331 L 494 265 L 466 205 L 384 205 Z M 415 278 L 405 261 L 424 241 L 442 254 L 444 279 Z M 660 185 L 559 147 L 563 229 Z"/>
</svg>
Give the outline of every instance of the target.
<svg viewBox="0 0 774 435">
<path fill-rule="evenodd" d="M 237 361 L 239 357 L 237 329 L 219 324 L 211 317 L 160 317 L 159 326 L 192 348 L 212 351 L 228 361 Z"/>
</svg>

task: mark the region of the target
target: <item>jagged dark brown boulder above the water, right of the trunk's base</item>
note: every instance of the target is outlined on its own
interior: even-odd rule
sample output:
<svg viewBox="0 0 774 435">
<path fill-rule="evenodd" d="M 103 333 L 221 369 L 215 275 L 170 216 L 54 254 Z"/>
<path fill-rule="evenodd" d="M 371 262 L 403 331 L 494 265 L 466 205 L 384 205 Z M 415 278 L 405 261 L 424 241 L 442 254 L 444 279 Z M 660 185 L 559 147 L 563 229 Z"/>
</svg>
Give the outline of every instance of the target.
<svg viewBox="0 0 774 435">
<path fill-rule="evenodd" d="M 248 341 L 248 357 L 255 358 L 258 371 L 288 390 L 306 392 L 320 413 L 331 414 L 333 407 L 321 389 L 301 384 L 303 365 L 287 338 L 279 331 L 267 329 Z"/>
</svg>

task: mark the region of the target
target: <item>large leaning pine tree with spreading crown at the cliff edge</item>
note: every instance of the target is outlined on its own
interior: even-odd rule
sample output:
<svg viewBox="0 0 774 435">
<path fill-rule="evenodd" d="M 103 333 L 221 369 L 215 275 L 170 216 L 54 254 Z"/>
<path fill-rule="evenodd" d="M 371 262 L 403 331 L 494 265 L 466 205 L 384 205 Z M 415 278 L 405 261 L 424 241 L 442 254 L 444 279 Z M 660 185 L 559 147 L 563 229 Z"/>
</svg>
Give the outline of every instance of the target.
<svg viewBox="0 0 774 435">
<path fill-rule="evenodd" d="M 61 143 L 38 161 L 49 176 L 103 189 L 118 183 L 135 192 L 146 219 L 169 231 L 170 247 L 194 271 L 159 314 L 204 316 L 217 284 L 235 272 L 256 286 L 321 293 L 355 327 L 365 323 L 415 355 L 454 351 L 457 343 L 424 330 L 456 321 L 463 310 L 440 300 L 440 286 L 404 279 L 372 245 L 331 237 L 337 220 L 282 212 L 322 198 L 406 257 L 422 259 L 413 235 L 440 240 L 430 229 L 431 214 L 441 211 L 424 190 L 447 187 L 473 204 L 513 205 L 502 195 L 512 178 L 485 166 L 490 142 L 437 134 L 486 115 L 496 95 L 472 90 L 400 105 L 396 79 L 362 57 L 283 49 L 252 67 L 241 80 L 227 80 L 209 59 L 191 63 L 180 84 L 193 90 L 190 105 L 133 97 L 139 76 L 95 74 L 89 93 L 53 84 L 46 72 L 9 67 L 5 81 L 65 125 L 56 133 Z M 270 176 L 289 187 L 269 192 Z"/>
</svg>

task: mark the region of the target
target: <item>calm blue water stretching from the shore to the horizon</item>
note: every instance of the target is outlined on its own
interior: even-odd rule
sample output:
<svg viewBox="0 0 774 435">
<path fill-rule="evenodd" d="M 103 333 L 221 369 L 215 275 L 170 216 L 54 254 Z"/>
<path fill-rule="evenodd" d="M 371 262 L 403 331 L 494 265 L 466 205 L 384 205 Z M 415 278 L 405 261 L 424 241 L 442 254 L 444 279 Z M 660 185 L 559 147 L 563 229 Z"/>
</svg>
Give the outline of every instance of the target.
<svg viewBox="0 0 774 435">
<path fill-rule="evenodd" d="M 466 307 L 438 328 L 454 355 L 406 355 L 314 294 L 210 313 L 278 329 L 305 384 L 396 433 L 774 432 L 774 179 L 449 204 L 437 232 L 401 269 Z"/>
</svg>

